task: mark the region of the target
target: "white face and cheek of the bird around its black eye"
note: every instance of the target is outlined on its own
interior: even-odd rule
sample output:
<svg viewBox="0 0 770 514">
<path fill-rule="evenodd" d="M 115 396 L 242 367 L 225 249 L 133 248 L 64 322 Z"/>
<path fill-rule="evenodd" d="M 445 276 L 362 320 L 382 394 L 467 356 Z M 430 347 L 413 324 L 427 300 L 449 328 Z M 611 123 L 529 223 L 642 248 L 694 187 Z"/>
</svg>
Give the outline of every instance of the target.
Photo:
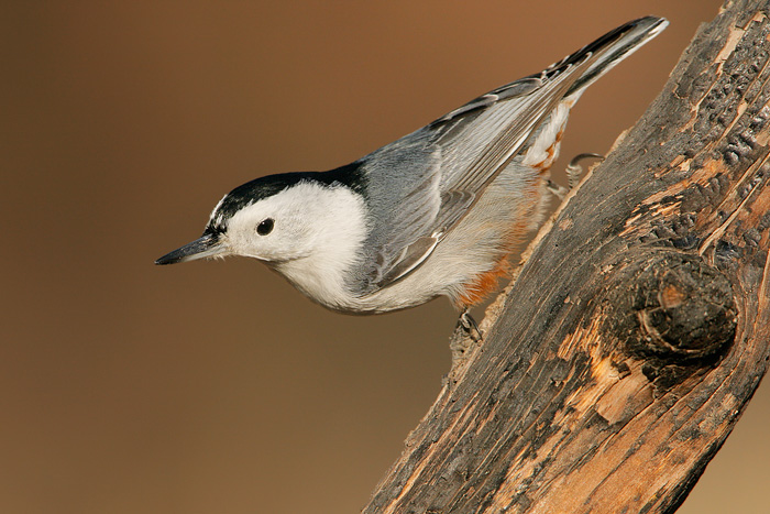
<svg viewBox="0 0 770 514">
<path fill-rule="evenodd" d="M 227 223 L 227 253 L 279 264 L 304 258 L 323 258 L 329 252 L 346 255 L 363 240 L 362 200 L 344 187 L 302 182 L 244 207 Z"/>
</svg>

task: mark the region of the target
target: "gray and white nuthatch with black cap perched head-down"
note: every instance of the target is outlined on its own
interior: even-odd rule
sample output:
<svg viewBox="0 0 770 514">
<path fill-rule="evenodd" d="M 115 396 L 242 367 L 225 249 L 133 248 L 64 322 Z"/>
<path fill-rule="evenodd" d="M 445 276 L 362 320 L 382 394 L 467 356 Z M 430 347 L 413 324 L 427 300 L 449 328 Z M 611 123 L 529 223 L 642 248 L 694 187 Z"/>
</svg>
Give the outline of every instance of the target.
<svg viewBox="0 0 770 514">
<path fill-rule="evenodd" d="M 667 25 L 629 21 L 351 164 L 235 187 L 199 239 L 155 263 L 241 255 L 336 311 L 380 314 L 447 296 L 462 319 L 543 220 L 570 109 Z"/>
</svg>

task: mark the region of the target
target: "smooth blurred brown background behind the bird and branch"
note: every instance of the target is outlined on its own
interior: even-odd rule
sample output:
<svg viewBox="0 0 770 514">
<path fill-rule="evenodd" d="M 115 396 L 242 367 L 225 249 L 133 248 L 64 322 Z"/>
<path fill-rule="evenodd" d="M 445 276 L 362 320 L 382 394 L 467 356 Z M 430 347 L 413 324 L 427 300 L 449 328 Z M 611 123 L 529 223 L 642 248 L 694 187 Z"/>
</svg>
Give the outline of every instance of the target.
<svg viewBox="0 0 770 514">
<path fill-rule="evenodd" d="M 570 120 L 562 155 L 604 153 L 719 4 L 2 2 L 0 512 L 358 512 L 449 371 L 449 303 L 349 317 L 257 262 L 153 260 L 243 182 L 664 15 Z M 681 512 L 767 512 L 769 412 L 763 384 Z"/>
</svg>

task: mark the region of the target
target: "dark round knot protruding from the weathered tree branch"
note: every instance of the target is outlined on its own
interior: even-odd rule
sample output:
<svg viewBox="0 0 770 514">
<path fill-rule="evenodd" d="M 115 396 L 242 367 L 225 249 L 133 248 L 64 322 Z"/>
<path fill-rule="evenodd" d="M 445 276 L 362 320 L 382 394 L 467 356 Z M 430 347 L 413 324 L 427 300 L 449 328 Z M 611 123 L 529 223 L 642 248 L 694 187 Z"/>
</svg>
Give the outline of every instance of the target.
<svg viewBox="0 0 770 514">
<path fill-rule="evenodd" d="M 656 252 L 622 275 L 609 298 L 614 327 L 607 328 L 625 338 L 632 353 L 707 364 L 735 339 L 733 285 L 698 255 Z"/>
</svg>

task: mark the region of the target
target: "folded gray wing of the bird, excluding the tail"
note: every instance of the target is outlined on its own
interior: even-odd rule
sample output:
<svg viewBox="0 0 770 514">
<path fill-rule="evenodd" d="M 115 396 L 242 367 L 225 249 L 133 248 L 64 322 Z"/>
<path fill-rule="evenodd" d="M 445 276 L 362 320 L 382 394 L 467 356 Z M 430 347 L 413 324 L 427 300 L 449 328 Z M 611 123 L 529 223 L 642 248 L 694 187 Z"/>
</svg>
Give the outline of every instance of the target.
<svg viewBox="0 0 770 514">
<path fill-rule="evenodd" d="M 363 169 L 372 189 L 370 208 L 376 227 L 365 247 L 375 249 L 376 254 L 366 259 L 373 265 L 364 281 L 358 278 L 361 293 L 372 293 L 407 276 L 430 255 L 561 100 L 570 85 L 566 77 L 569 74 L 563 74 L 539 89 L 531 89 L 535 83 L 529 79 L 526 87 L 513 85 L 512 90 L 527 92 L 506 95 L 504 103 L 508 105 L 491 112 L 491 120 L 482 119 L 485 112 L 474 105 L 444 117 L 440 125 L 428 125 L 365 157 Z M 498 102 L 483 109 L 495 109 Z M 476 122 L 448 138 L 444 131 L 452 133 L 453 123 L 465 123 L 466 116 L 476 118 Z M 477 127 L 479 121 L 483 129 Z M 466 134 L 469 130 L 473 133 Z M 463 152 L 469 140 L 488 143 L 472 153 L 472 162 L 464 163 L 452 154 Z M 396 160 L 394 155 L 408 157 Z M 394 179 L 394 174 L 409 179 Z M 382 201 L 384 198 L 388 201 Z"/>
</svg>

